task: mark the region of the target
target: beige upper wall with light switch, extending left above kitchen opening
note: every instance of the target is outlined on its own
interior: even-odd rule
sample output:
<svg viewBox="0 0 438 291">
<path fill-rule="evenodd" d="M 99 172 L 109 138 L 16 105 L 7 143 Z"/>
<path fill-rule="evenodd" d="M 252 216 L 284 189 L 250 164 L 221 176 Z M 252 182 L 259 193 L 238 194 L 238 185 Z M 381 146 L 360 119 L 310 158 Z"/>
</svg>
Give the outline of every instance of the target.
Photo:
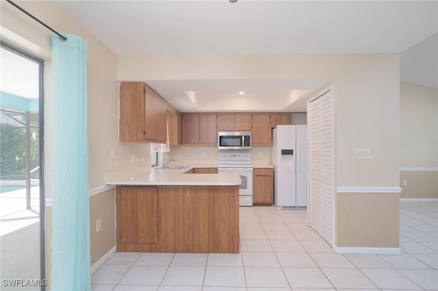
<svg viewBox="0 0 438 291">
<path fill-rule="evenodd" d="M 398 186 L 399 75 L 397 54 L 118 55 L 117 78 L 330 79 L 335 85 L 338 186 Z M 356 159 L 356 148 L 371 148 L 372 158 Z"/>
</svg>

